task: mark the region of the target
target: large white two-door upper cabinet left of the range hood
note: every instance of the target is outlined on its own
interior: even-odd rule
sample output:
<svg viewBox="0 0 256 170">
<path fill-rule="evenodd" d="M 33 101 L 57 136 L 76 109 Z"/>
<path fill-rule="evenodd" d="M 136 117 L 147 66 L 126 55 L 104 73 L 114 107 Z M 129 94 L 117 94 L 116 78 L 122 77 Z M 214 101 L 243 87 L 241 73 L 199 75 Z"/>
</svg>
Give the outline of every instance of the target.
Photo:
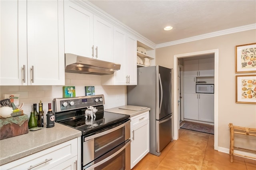
<svg viewBox="0 0 256 170">
<path fill-rule="evenodd" d="M 0 3 L 0 85 L 64 85 L 63 1 Z"/>
</svg>

